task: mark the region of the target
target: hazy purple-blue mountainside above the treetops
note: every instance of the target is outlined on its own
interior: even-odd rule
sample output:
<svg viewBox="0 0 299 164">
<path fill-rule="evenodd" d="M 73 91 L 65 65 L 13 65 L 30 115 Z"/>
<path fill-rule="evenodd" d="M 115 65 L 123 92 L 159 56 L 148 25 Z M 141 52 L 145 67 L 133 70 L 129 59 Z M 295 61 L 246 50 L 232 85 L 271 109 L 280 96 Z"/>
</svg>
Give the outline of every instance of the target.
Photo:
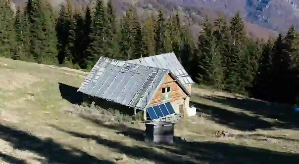
<svg viewBox="0 0 299 164">
<path fill-rule="evenodd" d="M 24 5 L 27 0 L 13 0 L 16 5 Z M 65 0 L 51 0 L 59 7 Z M 78 6 L 90 3 L 90 0 L 72 0 Z M 286 31 L 292 24 L 299 25 L 299 0 L 114 0 L 114 7 L 122 15 L 129 7 L 138 9 L 141 17 L 162 9 L 171 14 L 179 11 L 186 22 L 192 24 L 194 33 L 198 33 L 205 16 L 215 18 L 219 13 L 230 17 L 239 11 L 247 32 L 253 37 L 275 36 Z"/>
</svg>

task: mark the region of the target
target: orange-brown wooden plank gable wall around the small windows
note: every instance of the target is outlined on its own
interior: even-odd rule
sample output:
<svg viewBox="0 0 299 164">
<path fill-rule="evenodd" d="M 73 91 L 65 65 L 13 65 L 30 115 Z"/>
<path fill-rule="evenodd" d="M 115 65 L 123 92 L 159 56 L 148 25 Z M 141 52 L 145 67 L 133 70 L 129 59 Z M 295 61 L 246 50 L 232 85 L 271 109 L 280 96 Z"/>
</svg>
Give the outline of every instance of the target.
<svg viewBox="0 0 299 164">
<path fill-rule="evenodd" d="M 165 101 L 165 100 L 163 101 L 162 88 L 165 88 L 165 87 L 168 87 L 168 86 L 171 86 L 170 99 L 168 99 L 168 101 Z M 159 104 L 165 103 L 165 102 L 173 102 L 173 101 L 183 99 L 183 98 L 186 98 L 186 97 L 187 97 L 187 95 L 179 87 L 179 85 L 176 83 L 176 81 L 170 75 L 167 75 L 167 77 L 163 81 L 163 84 L 161 85 L 161 87 L 157 91 L 154 99 L 149 104 L 149 107 L 159 105 Z"/>
</svg>

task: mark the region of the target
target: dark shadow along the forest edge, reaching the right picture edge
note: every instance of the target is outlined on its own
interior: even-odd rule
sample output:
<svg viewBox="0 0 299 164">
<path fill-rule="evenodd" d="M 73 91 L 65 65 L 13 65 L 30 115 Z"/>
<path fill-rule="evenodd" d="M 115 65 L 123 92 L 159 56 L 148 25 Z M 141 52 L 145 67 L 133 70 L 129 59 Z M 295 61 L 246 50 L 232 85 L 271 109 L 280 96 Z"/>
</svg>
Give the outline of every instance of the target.
<svg viewBox="0 0 299 164">
<path fill-rule="evenodd" d="M 299 128 L 299 113 L 295 112 L 293 106 L 278 103 L 269 103 L 255 99 L 237 99 L 227 98 L 222 96 L 205 97 L 205 99 L 212 100 L 217 103 L 222 103 L 234 108 L 243 109 L 253 112 L 256 115 L 261 115 L 266 118 L 276 119 L 275 127 L 285 129 Z"/>
</svg>

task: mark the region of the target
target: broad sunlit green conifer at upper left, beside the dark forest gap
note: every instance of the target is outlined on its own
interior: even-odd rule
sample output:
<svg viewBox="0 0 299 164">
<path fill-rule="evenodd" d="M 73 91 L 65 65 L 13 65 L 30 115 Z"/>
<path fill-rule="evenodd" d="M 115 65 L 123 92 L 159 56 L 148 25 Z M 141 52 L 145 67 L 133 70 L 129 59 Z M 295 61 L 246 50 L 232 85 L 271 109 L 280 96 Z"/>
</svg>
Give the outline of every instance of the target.
<svg viewBox="0 0 299 164">
<path fill-rule="evenodd" d="M 37 63 L 58 64 L 56 16 L 47 1 L 28 0 L 26 16 L 30 22 L 30 52 Z"/>
</svg>

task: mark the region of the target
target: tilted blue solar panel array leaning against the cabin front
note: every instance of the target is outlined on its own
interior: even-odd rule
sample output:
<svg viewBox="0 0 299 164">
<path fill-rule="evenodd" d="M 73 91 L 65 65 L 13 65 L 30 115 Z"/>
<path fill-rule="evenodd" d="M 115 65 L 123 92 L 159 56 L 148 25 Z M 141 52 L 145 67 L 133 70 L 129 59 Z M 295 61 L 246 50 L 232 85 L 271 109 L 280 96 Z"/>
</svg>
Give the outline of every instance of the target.
<svg viewBox="0 0 299 164">
<path fill-rule="evenodd" d="M 155 120 L 174 114 L 175 112 L 171 104 L 168 102 L 147 108 L 147 113 L 151 120 Z"/>
</svg>

